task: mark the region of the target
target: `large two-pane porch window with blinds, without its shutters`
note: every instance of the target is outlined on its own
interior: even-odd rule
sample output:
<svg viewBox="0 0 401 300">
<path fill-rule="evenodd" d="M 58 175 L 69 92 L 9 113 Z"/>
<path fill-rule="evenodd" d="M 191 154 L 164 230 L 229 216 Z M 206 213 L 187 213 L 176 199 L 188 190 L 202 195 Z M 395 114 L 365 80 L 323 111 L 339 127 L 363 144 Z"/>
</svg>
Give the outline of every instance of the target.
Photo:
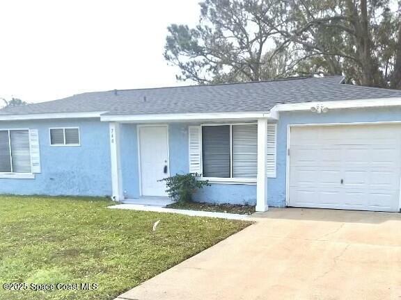
<svg viewBox="0 0 401 300">
<path fill-rule="evenodd" d="M 202 157 L 204 177 L 256 178 L 258 126 L 203 126 Z"/>
</svg>

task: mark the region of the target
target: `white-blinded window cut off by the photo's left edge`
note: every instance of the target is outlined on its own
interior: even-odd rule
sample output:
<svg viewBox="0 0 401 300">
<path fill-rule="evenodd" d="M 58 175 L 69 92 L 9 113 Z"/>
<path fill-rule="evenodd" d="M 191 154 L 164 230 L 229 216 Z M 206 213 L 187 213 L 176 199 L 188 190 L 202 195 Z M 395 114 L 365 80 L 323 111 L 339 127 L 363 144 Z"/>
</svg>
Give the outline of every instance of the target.
<svg viewBox="0 0 401 300">
<path fill-rule="evenodd" d="M 29 130 L 0 131 L 0 173 L 31 173 Z"/>
</svg>

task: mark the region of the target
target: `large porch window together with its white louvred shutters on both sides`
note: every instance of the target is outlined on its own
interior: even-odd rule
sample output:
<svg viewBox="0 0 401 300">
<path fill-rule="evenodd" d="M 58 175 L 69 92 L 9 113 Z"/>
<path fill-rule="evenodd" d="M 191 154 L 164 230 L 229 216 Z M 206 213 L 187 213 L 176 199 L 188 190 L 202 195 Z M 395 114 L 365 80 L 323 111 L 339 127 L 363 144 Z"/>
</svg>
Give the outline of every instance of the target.
<svg viewBox="0 0 401 300">
<path fill-rule="evenodd" d="M 219 182 L 254 183 L 258 173 L 258 125 L 189 126 L 189 172 Z M 266 173 L 276 177 L 277 124 L 267 124 Z M 219 180 L 218 178 L 221 178 Z"/>
</svg>

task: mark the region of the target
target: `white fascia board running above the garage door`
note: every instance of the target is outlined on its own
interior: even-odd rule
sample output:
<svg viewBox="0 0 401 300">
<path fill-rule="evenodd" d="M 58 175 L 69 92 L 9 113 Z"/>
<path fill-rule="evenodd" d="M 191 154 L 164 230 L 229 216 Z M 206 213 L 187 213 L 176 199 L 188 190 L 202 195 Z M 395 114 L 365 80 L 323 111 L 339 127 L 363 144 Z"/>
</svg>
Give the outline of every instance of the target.
<svg viewBox="0 0 401 300">
<path fill-rule="evenodd" d="M 310 110 L 311 107 L 321 105 L 329 109 L 341 108 L 375 108 L 386 106 L 401 106 L 401 97 L 399 98 L 377 98 L 377 99 L 357 99 L 340 101 L 313 101 L 303 103 L 285 103 L 278 104 L 270 110 L 272 117 L 283 111 Z"/>
</svg>

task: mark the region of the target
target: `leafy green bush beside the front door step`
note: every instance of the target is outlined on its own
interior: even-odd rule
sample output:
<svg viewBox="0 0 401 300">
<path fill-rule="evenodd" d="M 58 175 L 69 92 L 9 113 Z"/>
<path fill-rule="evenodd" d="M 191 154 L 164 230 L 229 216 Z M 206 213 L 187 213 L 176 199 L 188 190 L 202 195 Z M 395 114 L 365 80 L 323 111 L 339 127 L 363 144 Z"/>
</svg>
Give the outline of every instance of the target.
<svg viewBox="0 0 401 300">
<path fill-rule="evenodd" d="M 196 178 L 199 176 L 197 173 L 176 174 L 160 181 L 166 181 L 166 192 L 171 199 L 185 203 L 192 200 L 192 195 L 196 190 L 203 188 L 204 185 L 210 186 L 209 181 L 197 180 Z"/>
</svg>

